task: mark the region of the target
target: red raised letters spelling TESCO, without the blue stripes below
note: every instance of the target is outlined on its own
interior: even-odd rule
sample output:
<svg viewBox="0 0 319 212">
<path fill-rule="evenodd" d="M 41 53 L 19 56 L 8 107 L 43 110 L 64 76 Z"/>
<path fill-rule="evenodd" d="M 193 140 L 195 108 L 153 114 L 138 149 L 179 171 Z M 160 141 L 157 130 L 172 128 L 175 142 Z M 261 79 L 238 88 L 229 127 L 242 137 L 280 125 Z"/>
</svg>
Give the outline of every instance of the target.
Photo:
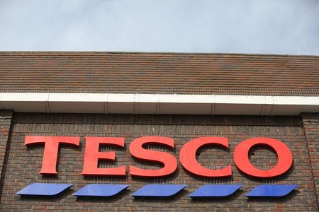
<svg viewBox="0 0 319 212">
<path fill-rule="evenodd" d="M 40 174 L 57 174 L 57 153 L 60 143 L 79 146 L 80 137 L 76 136 L 26 136 L 25 145 L 31 146 L 39 143 L 44 144 L 43 163 Z M 115 160 L 116 154 L 113 151 L 100 152 L 100 145 L 124 147 L 124 138 L 118 137 L 85 137 L 85 153 L 82 175 L 102 175 L 102 176 L 125 176 L 126 165 L 119 167 L 98 167 L 99 160 Z M 134 158 L 155 163 L 162 163 L 164 167 L 158 170 L 147 170 L 134 165 L 129 166 L 130 175 L 140 177 L 164 177 L 171 175 L 177 170 L 177 159 L 170 153 L 153 151 L 143 148 L 146 144 L 156 144 L 174 148 L 174 139 L 163 136 L 144 136 L 133 140 L 130 143 L 130 154 Z M 228 165 L 222 169 L 208 169 L 203 167 L 196 160 L 196 151 L 202 146 L 218 145 L 228 148 L 228 138 L 207 136 L 191 140 L 182 146 L 179 152 L 181 165 L 194 175 L 201 177 L 228 177 L 232 175 L 232 166 Z M 259 170 L 250 163 L 248 152 L 256 145 L 268 146 L 272 148 L 278 156 L 276 166 L 269 170 Z M 276 177 L 284 174 L 292 165 L 293 157 L 291 151 L 276 139 L 258 137 L 242 141 L 235 147 L 233 153 L 235 165 L 239 170 L 252 177 Z"/>
</svg>

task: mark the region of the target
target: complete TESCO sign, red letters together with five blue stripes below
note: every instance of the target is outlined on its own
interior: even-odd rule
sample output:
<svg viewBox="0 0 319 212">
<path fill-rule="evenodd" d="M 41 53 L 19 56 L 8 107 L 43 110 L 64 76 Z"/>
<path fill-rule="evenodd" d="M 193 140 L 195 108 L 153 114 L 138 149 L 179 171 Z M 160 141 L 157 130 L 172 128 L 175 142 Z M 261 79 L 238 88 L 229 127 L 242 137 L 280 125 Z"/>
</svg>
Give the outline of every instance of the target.
<svg viewBox="0 0 319 212">
<path fill-rule="evenodd" d="M 57 155 L 60 144 L 79 146 L 80 138 L 74 136 L 26 136 L 26 146 L 44 144 L 43 163 L 40 170 L 42 175 L 57 174 Z M 177 158 L 162 151 L 153 151 L 143 146 L 156 144 L 174 148 L 174 139 L 162 136 L 144 136 L 133 140 L 129 150 L 132 157 L 148 162 L 162 163 L 158 170 L 147 170 L 134 165 L 129 166 L 129 173 L 139 177 L 165 177 L 177 170 Z M 119 167 L 98 167 L 99 160 L 116 160 L 113 151 L 100 152 L 103 145 L 124 147 L 124 138 L 114 137 L 85 137 L 85 152 L 82 175 L 90 176 L 125 176 L 126 165 Z M 200 177 L 229 177 L 232 175 L 232 166 L 221 169 L 208 169 L 196 160 L 196 151 L 203 146 L 221 146 L 228 148 L 228 139 L 225 137 L 201 137 L 193 139 L 182 146 L 179 152 L 179 161 L 185 170 Z M 250 163 L 248 153 L 253 146 L 267 146 L 272 148 L 278 156 L 277 164 L 269 170 L 259 170 Z M 252 177 L 277 177 L 284 174 L 292 165 L 293 157 L 289 148 L 276 139 L 264 137 L 247 139 L 240 142 L 233 153 L 235 165 L 239 170 Z M 16 194 L 21 196 L 55 196 L 72 187 L 72 184 L 33 183 L 24 187 Z M 127 189 L 127 184 L 88 184 L 73 195 L 80 196 L 115 196 Z M 173 196 L 187 187 L 186 184 L 147 184 L 134 192 L 138 197 L 168 197 Z M 230 196 L 242 187 L 242 184 L 206 184 L 189 194 L 191 198 Z M 296 184 L 262 184 L 246 194 L 247 197 L 280 197 L 286 196 L 298 187 Z"/>
</svg>

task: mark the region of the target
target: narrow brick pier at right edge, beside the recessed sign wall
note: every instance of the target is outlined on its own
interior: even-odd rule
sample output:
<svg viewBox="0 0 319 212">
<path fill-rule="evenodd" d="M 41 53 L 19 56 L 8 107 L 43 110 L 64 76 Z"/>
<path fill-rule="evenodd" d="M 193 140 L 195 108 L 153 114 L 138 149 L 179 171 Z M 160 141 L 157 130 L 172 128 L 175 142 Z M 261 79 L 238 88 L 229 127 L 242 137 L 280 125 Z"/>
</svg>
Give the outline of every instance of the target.
<svg viewBox="0 0 319 212">
<path fill-rule="evenodd" d="M 315 187 L 315 199 L 318 204 L 319 196 L 319 114 L 302 114 L 303 126 L 306 136 L 306 146 L 308 148 L 310 168 L 313 173 L 313 182 Z"/>
</svg>

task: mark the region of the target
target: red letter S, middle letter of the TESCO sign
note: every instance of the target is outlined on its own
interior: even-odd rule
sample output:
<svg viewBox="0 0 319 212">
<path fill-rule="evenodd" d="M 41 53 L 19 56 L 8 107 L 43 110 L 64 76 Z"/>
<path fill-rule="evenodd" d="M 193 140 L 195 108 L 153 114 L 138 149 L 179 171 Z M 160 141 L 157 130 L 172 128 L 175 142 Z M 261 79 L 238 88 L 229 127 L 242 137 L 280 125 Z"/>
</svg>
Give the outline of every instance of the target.
<svg viewBox="0 0 319 212">
<path fill-rule="evenodd" d="M 164 164 L 164 167 L 158 170 L 144 170 L 130 165 L 130 175 L 142 177 L 163 177 L 172 174 L 177 169 L 177 160 L 169 153 L 151 151 L 142 148 L 144 144 L 161 144 L 174 148 L 174 139 L 161 136 L 146 136 L 135 139 L 130 143 L 130 153 L 138 159 Z"/>
</svg>

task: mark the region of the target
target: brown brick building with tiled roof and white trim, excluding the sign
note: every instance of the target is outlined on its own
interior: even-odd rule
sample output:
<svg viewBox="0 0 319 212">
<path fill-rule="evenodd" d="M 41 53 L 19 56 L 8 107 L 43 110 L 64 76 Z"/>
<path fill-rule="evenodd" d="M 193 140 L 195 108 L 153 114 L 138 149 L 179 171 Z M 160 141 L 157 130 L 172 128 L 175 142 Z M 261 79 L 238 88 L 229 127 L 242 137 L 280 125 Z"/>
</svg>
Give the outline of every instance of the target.
<svg viewBox="0 0 319 212">
<path fill-rule="evenodd" d="M 318 211 L 319 57 L 257 54 L 171 54 L 122 52 L 0 52 L 1 211 Z M 27 136 L 79 138 L 60 144 L 57 174 L 40 174 L 45 146 L 26 145 Z M 174 139 L 174 148 L 151 143 L 152 151 L 174 155 L 177 170 L 164 177 L 130 175 L 130 165 L 159 170 L 161 163 L 130 153 L 145 136 Z M 231 165 L 227 177 L 201 177 L 179 159 L 185 143 L 201 137 L 228 139 L 225 146 L 198 148 L 208 170 Z M 116 160 L 99 168 L 125 166 L 125 175 L 83 175 L 89 137 L 123 138 L 124 146 L 99 146 Z M 291 151 L 289 170 L 254 177 L 237 167 L 234 151 L 254 138 L 276 139 Z M 259 170 L 276 167 L 280 153 L 250 148 Z M 58 195 L 18 195 L 33 183 L 72 184 Z M 88 184 L 127 184 L 114 196 L 74 196 Z M 179 184 L 172 196 L 132 196 L 147 184 Z M 192 198 L 203 185 L 241 184 L 231 195 Z M 298 185 L 283 196 L 248 197 L 261 184 Z"/>
</svg>

